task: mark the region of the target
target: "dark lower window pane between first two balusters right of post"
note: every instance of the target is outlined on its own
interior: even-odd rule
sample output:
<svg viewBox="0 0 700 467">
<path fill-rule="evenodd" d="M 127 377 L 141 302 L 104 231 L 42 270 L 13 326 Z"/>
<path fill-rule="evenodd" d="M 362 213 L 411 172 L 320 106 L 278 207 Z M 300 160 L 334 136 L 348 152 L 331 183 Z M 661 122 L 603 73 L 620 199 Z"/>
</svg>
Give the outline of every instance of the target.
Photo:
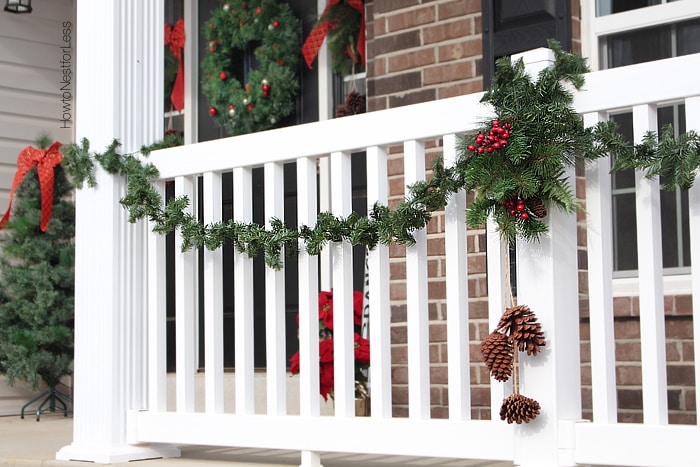
<svg viewBox="0 0 700 467">
<path fill-rule="evenodd" d="M 637 209 L 634 198 L 634 193 L 613 196 L 615 271 L 637 269 Z"/>
</svg>

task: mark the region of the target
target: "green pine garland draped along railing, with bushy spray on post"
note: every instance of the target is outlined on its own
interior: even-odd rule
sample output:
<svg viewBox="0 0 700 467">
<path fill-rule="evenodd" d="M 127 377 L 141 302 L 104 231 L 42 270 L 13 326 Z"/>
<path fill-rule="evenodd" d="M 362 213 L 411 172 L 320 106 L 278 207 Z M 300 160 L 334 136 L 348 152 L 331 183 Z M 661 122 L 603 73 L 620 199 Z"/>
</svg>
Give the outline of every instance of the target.
<svg viewBox="0 0 700 467">
<path fill-rule="evenodd" d="M 312 255 L 318 255 L 328 242 L 344 240 L 370 249 L 380 243 L 412 245 L 413 232 L 425 227 L 433 211 L 444 209 L 449 197 L 464 189 L 475 192 L 467 211 L 471 226 L 483 226 L 487 215 L 492 213 L 504 239 L 537 240 L 546 231 L 546 224 L 536 218 L 535 207 L 528 204 L 529 200 L 539 197 L 548 206 L 574 211 L 579 202 L 561 177 L 563 167 L 606 154 L 613 154 L 622 168 L 648 167 L 650 176 L 672 174 L 665 187 L 678 184 L 684 188 L 692 184 L 700 167 L 697 135 L 688 133 L 676 141 L 664 133 L 655 144 L 655 136 L 650 133 L 644 144 L 632 147 L 622 140 L 614 123 L 584 128 L 580 117 L 571 109 L 570 94 L 562 86 L 562 80 L 576 86 L 583 84 L 581 62 L 557 49 L 556 44 L 553 47 L 556 63 L 550 71 L 543 71 L 536 83 L 525 75 L 522 63 L 499 62 L 494 88 L 484 100 L 494 105 L 500 117 L 499 125 L 501 119 L 511 123 L 512 135 L 509 131 L 507 138 L 503 138 L 503 133 L 499 133 L 500 139 L 507 140 L 505 148 L 483 153 L 471 151 L 469 144 L 473 143 L 467 138 L 461 143 L 462 151 L 454 166 L 444 167 L 437 158 L 430 180 L 408 187 L 406 199 L 395 209 L 375 204 L 367 217 L 353 212 L 342 218 L 324 212 L 318 215 L 315 226 L 304 225 L 299 230 L 288 229 L 280 219 L 271 219 L 269 230 L 262 225 L 233 220 L 204 225 L 184 211 L 189 204 L 187 197 L 170 200 L 163 208 L 163 200 L 152 186 L 152 181 L 158 178 L 157 168 L 133 154 L 119 155 L 116 140 L 102 154 L 91 154 L 86 139 L 80 146 L 63 146 L 63 164 L 78 187 L 85 182 L 95 186 L 94 161 L 111 174 L 126 176 L 126 194 L 121 204 L 129 211 L 129 221 L 148 218 L 158 233 L 179 228 L 183 250 L 213 250 L 230 241 L 237 251 L 250 257 L 264 254 L 266 264 L 274 269 L 282 268 L 283 252 L 297 253 L 299 240 Z M 528 95 L 522 96 L 523 93 Z M 529 99 L 525 101 L 529 105 L 513 102 L 512 96 Z M 545 114 L 547 111 L 549 114 Z M 539 118 L 544 119 L 543 123 Z M 555 127 L 543 128 L 546 124 Z M 490 128 L 494 128 L 493 122 L 484 131 L 489 133 Z M 141 148 L 141 153 L 147 156 L 152 150 L 181 144 L 177 135 L 169 138 Z M 482 147 L 488 145 L 493 146 L 493 142 Z M 506 208 L 504 201 L 513 199 L 513 193 L 528 200 L 523 211 L 531 212 L 532 216 L 523 219 L 522 215 L 510 214 L 512 208 Z"/>
</svg>

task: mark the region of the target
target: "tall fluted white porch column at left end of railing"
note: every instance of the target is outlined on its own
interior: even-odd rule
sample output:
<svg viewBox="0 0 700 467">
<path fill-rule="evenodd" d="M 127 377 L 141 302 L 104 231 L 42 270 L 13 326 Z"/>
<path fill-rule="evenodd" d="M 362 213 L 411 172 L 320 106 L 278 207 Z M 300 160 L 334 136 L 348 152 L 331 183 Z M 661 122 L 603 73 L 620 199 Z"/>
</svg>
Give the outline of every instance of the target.
<svg viewBox="0 0 700 467">
<path fill-rule="evenodd" d="M 163 3 L 78 0 L 76 136 L 102 151 L 162 138 Z M 125 181 L 96 170 L 76 193 L 73 443 L 59 460 L 100 463 L 178 456 L 130 445 L 127 412 L 147 408 L 145 225 L 119 204 Z"/>
</svg>

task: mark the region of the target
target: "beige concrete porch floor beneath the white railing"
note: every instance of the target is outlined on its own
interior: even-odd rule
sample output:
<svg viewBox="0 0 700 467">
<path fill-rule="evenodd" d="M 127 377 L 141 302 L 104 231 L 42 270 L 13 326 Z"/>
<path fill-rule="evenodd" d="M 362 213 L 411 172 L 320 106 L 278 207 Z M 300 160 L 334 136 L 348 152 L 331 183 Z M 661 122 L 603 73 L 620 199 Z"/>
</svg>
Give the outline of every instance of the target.
<svg viewBox="0 0 700 467">
<path fill-rule="evenodd" d="M 58 413 L 45 413 L 37 422 L 32 414 L 0 417 L 0 466 L 77 467 L 85 462 L 56 460 L 56 451 L 71 443 L 73 418 Z M 298 451 L 222 448 L 216 446 L 181 446 L 182 457 L 152 459 L 110 464 L 129 467 L 194 467 L 194 466 L 248 466 L 287 467 L 299 465 Z M 465 461 L 421 457 L 387 457 L 368 454 L 324 453 L 324 467 L 382 467 L 387 465 L 436 467 L 512 467 L 510 462 Z M 100 464 L 103 465 L 103 464 Z"/>
</svg>

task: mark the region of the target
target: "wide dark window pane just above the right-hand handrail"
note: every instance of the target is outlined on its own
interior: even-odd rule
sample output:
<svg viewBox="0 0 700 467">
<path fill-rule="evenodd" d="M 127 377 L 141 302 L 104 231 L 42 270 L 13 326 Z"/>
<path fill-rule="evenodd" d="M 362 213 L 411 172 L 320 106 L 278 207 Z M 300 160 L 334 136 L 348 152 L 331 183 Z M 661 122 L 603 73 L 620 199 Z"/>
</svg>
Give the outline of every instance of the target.
<svg viewBox="0 0 700 467">
<path fill-rule="evenodd" d="M 671 27 L 661 26 L 608 36 L 608 68 L 671 57 Z"/>
</svg>

